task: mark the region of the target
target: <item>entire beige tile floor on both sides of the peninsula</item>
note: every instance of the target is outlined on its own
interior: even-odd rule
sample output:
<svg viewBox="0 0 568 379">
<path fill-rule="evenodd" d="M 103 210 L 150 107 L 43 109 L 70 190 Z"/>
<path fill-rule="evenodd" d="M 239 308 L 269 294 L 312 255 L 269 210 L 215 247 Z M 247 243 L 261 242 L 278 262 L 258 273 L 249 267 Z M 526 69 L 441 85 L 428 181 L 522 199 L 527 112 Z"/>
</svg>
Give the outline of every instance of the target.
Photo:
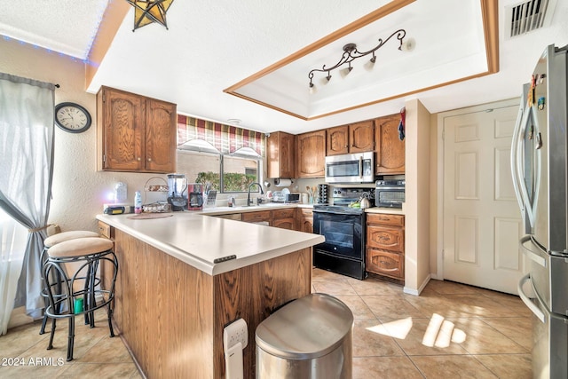
<svg viewBox="0 0 568 379">
<path fill-rule="evenodd" d="M 517 296 L 439 280 L 412 296 L 387 281 L 318 269 L 312 287 L 353 312 L 354 379 L 533 376 L 530 312 Z M 51 351 L 45 350 L 49 333 L 38 335 L 39 323 L 11 329 L 0 337 L 0 378 L 140 378 L 121 339 L 108 337 L 105 314 L 97 319 L 93 329 L 76 323 L 71 362 L 65 361 L 66 321 Z M 10 358 L 25 365 L 4 366 Z"/>
</svg>

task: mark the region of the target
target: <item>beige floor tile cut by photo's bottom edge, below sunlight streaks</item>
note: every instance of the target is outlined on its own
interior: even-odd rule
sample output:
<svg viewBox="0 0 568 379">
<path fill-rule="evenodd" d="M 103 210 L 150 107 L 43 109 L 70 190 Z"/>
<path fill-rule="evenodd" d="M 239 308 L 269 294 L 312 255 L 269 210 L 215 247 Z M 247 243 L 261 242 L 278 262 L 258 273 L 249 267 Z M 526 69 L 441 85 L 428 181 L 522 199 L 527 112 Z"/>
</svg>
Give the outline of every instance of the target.
<svg viewBox="0 0 568 379">
<path fill-rule="evenodd" d="M 416 356 L 410 359 L 426 378 L 497 378 L 477 359 L 469 355 Z"/>
</svg>

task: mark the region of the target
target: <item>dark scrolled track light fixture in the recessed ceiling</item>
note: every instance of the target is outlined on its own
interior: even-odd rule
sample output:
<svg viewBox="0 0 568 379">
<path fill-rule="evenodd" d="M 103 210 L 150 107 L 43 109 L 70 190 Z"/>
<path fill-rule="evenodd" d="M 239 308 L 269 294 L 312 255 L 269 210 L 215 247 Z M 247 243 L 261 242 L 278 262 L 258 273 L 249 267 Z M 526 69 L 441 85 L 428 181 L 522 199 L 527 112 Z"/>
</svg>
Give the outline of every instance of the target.
<svg viewBox="0 0 568 379">
<path fill-rule="evenodd" d="M 310 73 L 308 74 L 308 78 L 310 79 L 310 85 L 309 85 L 310 93 L 316 92 L 316 87 L 315 87 L 315 84 L 313 83 L 313 75 L 314 75 L 315 72 L 327 73 L 327 76 L 325 77 L 327 79 L 327 81 L 322 80 L 322 83 L 327 83 L 331 79 L 331 71 L 335 70 L 335 68 L 342 67 L 344 64 L 347 64 L 347 67 L 341 68 L 339 70 L 339 74 L 342 75 L 343 77 L 345 77 L 346 75 L 349 75 L 349 73 L 351 73 L 351 70 L 353 69 L 353 67 L 351 67 L 351 62 L 355 59 L 365 57 L 368 54 L 373 54 L 373 57 L 371 59 L 369 59 L 369 61 L 364 66 L 367 69 L 371 69 L 375 65 L 375 61 L 376 61 L 375 51 L 377 51 L 381 47 L 383 47 L 383 44 L 387 43 L 387 41 L 389 41 L 390 38 L 392 38 L 393 36 L 396 36 L 397 39 L 398 39 L 398 42 L 400 43 L 398 45 L 398 50 L 401 50 L 401 51 L 402 50 L 410 50 L 410 49 L 405 49 L 405 45 L 404 45 L 404 42 L 403 42 L 403 39 L 406 36 L 406 30 L 405 29 L 398 29 L 397 31 L 392 33 L 384 41 L 383 41 L 383 38 L 379 38 L 379 44 L 377 44 L 375 46 L 375 48 L 373 48 L 369 51 L 358 51 L 357 45 L 355 43 L 347 43 L 346 45 L 343 46 L 343 55 L 341 56 L 341 59 L 339 59 L 339 61 L 335 64 L 335 66 L 326 67 L 326 65 L 323 65 L 323 67 L 321 67 L 321 68 L 314 68 L 314 69 L 312 69 L 312 71 L 310 71 Z"/>
</svg>

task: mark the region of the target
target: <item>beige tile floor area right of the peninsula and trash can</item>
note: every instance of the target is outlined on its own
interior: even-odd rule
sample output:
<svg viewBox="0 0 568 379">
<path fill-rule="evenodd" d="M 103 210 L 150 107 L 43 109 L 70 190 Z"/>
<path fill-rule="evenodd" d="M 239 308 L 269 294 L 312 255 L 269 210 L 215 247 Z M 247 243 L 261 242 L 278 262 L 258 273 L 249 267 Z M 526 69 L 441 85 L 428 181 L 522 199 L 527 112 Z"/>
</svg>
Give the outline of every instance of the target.
<svg viewBox="0 0 568 379">
<path fill-rule="evenodd" d="M 353 312 L 353 379 L 533 377 L 531 313 L 517 296 L 440 280 L 412 296 L 318 269 L 312 287 Z"/>
</svg>

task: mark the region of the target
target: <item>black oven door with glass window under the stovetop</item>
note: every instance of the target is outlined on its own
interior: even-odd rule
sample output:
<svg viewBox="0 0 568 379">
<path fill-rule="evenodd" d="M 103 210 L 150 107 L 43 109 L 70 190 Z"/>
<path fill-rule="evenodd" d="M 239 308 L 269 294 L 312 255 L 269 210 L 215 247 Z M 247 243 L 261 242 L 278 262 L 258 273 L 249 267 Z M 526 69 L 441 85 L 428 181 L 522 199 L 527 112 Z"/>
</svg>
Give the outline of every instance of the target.
<svg viewBox="0 0 568 379">
<path fill-rule="evenodd" d="M 364 214 L 339 214 L 313 210 L 313 233 L 326 241 L 315 246 L 327 254 L 363 260 Z"/>
</svg>

